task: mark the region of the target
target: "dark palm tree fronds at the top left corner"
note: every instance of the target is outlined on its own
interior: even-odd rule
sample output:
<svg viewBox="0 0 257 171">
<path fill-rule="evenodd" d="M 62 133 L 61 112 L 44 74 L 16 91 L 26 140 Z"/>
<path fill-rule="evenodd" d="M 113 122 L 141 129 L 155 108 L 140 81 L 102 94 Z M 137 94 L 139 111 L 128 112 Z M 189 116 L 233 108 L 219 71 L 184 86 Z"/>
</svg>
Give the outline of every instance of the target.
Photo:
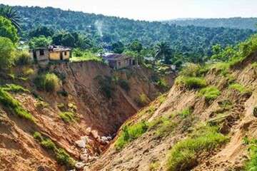
<svg viewBox="0 0 257 171">
<path fill-rule="evenodd" d="M 21 17 L 18 15 L 16 9 L 11 6 L 1 6 L 0 16 L 4 16 L 6 19 L 9 19 L 17 30 L 21 31 Z"/>
</svg>

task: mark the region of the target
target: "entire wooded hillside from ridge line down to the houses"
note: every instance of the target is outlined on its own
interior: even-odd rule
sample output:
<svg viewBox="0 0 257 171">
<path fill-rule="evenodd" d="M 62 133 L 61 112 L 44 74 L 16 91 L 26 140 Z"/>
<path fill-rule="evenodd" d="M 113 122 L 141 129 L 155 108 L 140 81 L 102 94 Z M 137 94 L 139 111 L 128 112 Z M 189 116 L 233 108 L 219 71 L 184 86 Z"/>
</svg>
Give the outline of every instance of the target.
<svg viewBox="0 0 257 171">
<path fill-rule="evenodd" d="M 211 47 L 235 45 L 253 34 L 252 30 L 176 26 L 161 22 L 134 21 L 118 17 L 63 11 L 51 7 L 16 7 L 21 16 L 22 39 L 44 35 L 64 46 L 122 53 L 134 51 L 133 41 L 143 45 L 139 56 L 155 56 L 156 44 L 171 48 L 168 63 L 202 62 L 211 56 Z M 44 27 L 43 27 L 44 26 Z M 130 53 L 131 54 L 131 53 Z M 133 56 L 138 56 L 134 54 Z"/>
</svg>

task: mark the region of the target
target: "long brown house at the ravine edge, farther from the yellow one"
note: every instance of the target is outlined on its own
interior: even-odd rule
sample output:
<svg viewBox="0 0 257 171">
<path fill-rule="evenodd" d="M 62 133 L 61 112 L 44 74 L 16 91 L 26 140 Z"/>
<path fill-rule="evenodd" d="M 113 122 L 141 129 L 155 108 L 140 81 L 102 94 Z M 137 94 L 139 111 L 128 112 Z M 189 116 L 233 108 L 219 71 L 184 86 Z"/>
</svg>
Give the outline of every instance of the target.
<svg viewBox="0 0 257 171">
<path fill-rule="evenodd" d="M 137 61 L 131 56 L 124 54 L 109 54 L 104 56 L 104 60 L 109 63 L 109 66 L 114 69 L 126 68 L 129 66 L 138 65 Z"/>
</svg>

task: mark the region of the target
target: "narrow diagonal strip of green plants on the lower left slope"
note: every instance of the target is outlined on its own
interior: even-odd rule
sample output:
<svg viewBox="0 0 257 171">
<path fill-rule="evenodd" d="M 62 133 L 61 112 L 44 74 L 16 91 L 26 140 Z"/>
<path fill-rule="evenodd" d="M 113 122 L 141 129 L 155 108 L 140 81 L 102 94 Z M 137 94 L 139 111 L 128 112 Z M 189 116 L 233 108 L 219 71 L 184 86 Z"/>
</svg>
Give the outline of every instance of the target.
<svg viewBox="0 0 257 171">
<path fill-rule="evenodd" d="M 40 145 L 46 150 L 53 152 L 57 162 L 60 165 L 65 165 L 69 169 L 74 168 L 76 161 L 70 157 L 70 155 L 64 149 L 56 147 L 50 138 L 43 138 L 39 132 L 34 133 L 34 138 L 39 141 Z"/>
</svg>

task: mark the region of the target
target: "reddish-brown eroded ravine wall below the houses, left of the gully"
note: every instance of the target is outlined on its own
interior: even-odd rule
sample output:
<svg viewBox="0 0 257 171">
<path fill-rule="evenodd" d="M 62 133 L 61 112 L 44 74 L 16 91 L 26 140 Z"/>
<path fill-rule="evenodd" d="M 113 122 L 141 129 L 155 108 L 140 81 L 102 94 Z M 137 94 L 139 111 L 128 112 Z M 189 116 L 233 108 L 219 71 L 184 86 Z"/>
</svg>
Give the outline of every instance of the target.
<svg viewBox="0 0 257 171">
<path fill-rule="evenodd" d="M 108 66 L 94 61 L 80 63 L 57 63 L 44 69 L 62 77 L 62 89 L 68 96 L 59 93 L 46 93 L 36 90 L 34 78 L 42 69 L 34 68 L 34 75 L 27 80 L 12 79 L 1 73 L 1 84 L 15 83 L 30 90 L 28 92 L 9 92 L 21 106 L 35 118 L 35 123 L 19 118 L 11 113 L 4 104 L 0 105 L 0 170 L 66 170 L 56 161 L 51 150 L 42 147 L 35 140 L 34 133 L 54 142 L 58 149 L 63 148 L 75 160 L 94 160 L 95 156 L 106 149 L 102 136 L 114 138 L 116 131 L 125 120 L 135 114 L 142 106 L 137 100 L 141 94 L 147 97 L 147 103 L 154 100 L 160 89 L 153 83 L 153 71 L 143 67 L 113 71 Z M 13 68 L 12 73 L 19 75 L 21 68 Z M 111 98 L 101 92 L 97 78 L 119 78 L 129 83 L 130 90 L 124 90 L 114 83 Z M 173 84 L 175 74 L 166 76 L 169 86 Z M 41 98 L 38 98 L 41 97 Z M 61 107 L 60 107 L 61 106 Z M 61 110 L 76 110 L 76 120 L 66 123 L 61 120 Z M 80 148 L 78 140 L 86 136 L 86 147 Z M 85 155 L 84 155 L 85 157 Z"/>
</svg>

